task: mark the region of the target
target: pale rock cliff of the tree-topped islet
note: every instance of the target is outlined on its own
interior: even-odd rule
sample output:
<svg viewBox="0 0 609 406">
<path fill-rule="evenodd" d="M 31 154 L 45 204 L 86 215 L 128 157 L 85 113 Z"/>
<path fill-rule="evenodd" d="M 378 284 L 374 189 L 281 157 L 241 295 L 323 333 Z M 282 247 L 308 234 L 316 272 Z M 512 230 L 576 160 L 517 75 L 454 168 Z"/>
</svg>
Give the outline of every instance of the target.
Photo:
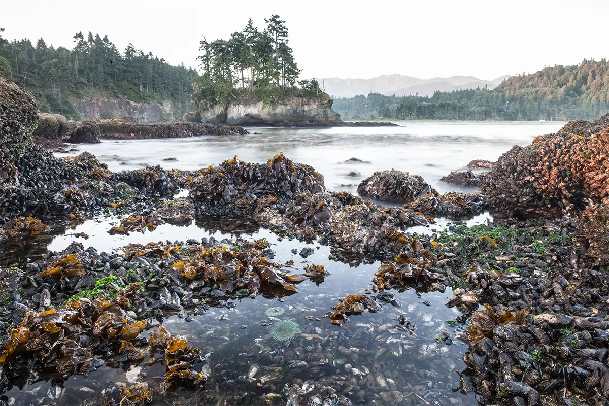
<svg viewBox="0 0 609 406">
<path fill-rule="evenodd" d="M 320 97 L 287 96 L 281 102 L 264 103 L 262 100 L 242 97 L 228 105 L 216 105 L 201 113 L 203 122 L 222 124 L 276 124 L 298 121 L 338 121 L 340 116 L 332 110 L 328 95 Z"/>
</svg>

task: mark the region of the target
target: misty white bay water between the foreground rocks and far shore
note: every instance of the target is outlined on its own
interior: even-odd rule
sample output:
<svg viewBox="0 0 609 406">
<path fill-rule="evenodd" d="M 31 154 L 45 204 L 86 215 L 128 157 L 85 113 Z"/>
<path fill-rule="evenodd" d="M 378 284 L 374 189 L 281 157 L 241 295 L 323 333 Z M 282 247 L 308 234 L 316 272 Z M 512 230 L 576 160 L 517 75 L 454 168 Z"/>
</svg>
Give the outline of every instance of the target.
<svg viewBox="0 0 609 406">
<path fill-rule="evenodd" d="M 200 169 L 237 155 L 263 163 L 283 152 L 295 162 L 323 173 L 330 190 L 354 192 L 376 170 L 397 169 L 421 175 L 440 192 L 455 187 L 440 183 L 451 170 L 465 169 L 472 159 L 494 161 L 512 145 L 553 133 L 564 122 L 398 122 L 378 128 L 250 128 L 249 136 L 202 136 L 182 139 L 103 141 L 80 145 L 111 170 L 161 165 L 166 169 Z M 62 154 L 63 155 L 63 154 Z M 343 163 L 349 158 L 370 164 Z M 177 161 L 163 161 L 177 158 Z M 355 175 L 349 176 L 350 172 Z"/>
</svg>

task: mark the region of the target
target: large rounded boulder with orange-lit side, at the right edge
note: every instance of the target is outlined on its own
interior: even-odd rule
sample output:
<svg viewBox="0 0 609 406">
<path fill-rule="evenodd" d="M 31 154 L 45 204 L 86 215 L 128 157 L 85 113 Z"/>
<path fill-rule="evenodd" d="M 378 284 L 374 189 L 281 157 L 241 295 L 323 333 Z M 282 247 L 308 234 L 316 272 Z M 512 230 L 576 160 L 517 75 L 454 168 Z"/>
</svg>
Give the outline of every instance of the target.
<svg viewBox="0 0 609 406">
<path fill-rule="evenodd" d="M 491 207 L 505 215 L 577 214 L 588 200 L 599 203 L 609 196 L 608 156 L 609 114 L 572 122 L 504 153 L 487 173 L 483 191 Z"/>
</svg>

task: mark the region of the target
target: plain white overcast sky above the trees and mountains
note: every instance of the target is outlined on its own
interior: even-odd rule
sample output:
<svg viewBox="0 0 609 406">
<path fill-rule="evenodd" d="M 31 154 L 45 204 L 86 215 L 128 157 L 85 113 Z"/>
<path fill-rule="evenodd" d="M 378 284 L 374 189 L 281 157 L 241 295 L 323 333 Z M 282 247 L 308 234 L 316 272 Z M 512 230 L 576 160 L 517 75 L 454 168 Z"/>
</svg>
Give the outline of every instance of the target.
<svg viewBox="0 0 609 406">
<path fill-rule="evenodd" d="M 302 77 L 490 80 L 609 56 L 609 0 L 3 0 L 1 10 L 9 40 L 72 47 L 74 33 L 91 31 L 192 66 L 203 35 L 227 38 L 278 14 Z"/>
</svg>

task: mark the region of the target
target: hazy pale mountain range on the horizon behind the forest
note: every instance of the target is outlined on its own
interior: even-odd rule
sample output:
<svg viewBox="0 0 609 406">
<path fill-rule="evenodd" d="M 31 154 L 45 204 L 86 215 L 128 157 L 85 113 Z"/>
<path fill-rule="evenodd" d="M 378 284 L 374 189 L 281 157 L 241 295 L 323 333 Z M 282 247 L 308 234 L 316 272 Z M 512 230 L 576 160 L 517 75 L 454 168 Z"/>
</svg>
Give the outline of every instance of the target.
<svg viewBox="0 0 609 406">
<path fill-rule="evenodd" d="M 396 96 L 432 96 L 435 91 L 449 92 L 461 89 L 475 89 L 477 87 L 489 89 L 496 88 L 499 83 L 509 75 L 494 80 L 482 80 L 473 76 L 433 77 L 432 79 L 419 79 L 405 75 L 382 75 L 371 79 L 340 79 L 331 77 L 323 79 L 326 93 L 334 97 L 353 97 L 358 94 L 367 95 L 370 92 Z M 322 80 L 320 80 L 322 82 Z"/>
</svg>

